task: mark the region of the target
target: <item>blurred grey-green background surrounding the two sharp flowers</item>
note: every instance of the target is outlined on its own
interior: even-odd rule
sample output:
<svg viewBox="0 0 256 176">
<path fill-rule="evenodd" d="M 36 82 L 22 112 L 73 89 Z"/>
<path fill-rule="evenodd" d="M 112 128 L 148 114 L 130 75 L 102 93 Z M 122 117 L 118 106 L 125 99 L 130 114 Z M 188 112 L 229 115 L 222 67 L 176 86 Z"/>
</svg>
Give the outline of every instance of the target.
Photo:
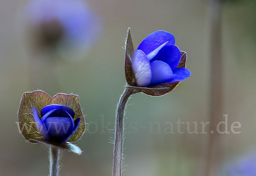
<svg viewBox="0 0 256 176">
<path fill-rule="evenodd" d="M 43 5 L 32 6 L 33 1 L 0 0 L 0 175 L 48 174 L 47 147 L 25 142 L 15 123 L 23 92 L 37 89 L 50 96 L 78 94 L 88 123 L 87 132 L 76 142 L 84 152 L 76 156 L 62 151 L 60 175 L 111 175 L 111 138 L 116 104 L 125 85 L 123 47 L 130 27 L 134 48 L 154 31 L 171 32 L 176 45 L 187 52 L 192 76 L 163 97 L 136 94 L 129 100 L 123 176 L 205 176 L 209 134 L 178 134 L 175 122 L 191 122 L 192 131 L 192 122 L 209 121 L 210 4 L 206 0 L 84 0 L 51 14 Z M 222 4 L 223 114 L 228 115 L 228 130 L 237 121 L 241 133 L 221 135 L 216 176 L 242 176 L 228 170 L 232 165 L 240 167 L 240 159 L 256 151 L 255 8 L 255 0 Z M 38 24 L 43 12 L 50 16 L 45 18 L 56 18 Z M 63 12 L 70 21 L 77 19 L 73 12 L 88 18 L 86 25 L 78 19 L 65 26 L 60 20 Z M 174 134 L 166 133 L 170 122 Z M 186 131 L 186 125 L 181 131 Z M 252 160 L 255 163 L 256 157 Z"/>
</svg>

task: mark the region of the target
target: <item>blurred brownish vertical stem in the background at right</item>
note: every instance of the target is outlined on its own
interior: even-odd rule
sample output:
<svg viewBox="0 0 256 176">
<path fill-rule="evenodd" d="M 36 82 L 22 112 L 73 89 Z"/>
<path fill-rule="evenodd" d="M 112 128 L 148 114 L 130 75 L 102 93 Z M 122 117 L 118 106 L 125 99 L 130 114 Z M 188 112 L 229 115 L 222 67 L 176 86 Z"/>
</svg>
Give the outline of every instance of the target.
<svg viewBox="0 0 256 176">
<path fill-rule="evenodd" d="M 222 120 L 222 54 L 221 6 L 222 0 L 209 0 L 210 6 L 210 102 L 206 176 L 217 176 L 221 165 L 221 136 L 216 125 Z M 213 133 L 212 133 L 213 132 Z"/>
</svg>

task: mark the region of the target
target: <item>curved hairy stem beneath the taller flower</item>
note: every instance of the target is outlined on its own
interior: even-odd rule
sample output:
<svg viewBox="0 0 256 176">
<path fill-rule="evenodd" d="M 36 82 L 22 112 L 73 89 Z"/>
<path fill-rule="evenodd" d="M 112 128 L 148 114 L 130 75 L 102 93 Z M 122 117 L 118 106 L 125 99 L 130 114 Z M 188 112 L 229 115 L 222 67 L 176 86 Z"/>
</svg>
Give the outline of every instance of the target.
<svg viewBox="0 0 256 176">
<path fill-rule="evenodd" d="M 132 94 L 140 92 L 132 88 L 125 88 L 116 110 L 115 142 L 113 155 L 113 176 L 122 175 L 122 150 L 125 105 Z"/>
</svg>

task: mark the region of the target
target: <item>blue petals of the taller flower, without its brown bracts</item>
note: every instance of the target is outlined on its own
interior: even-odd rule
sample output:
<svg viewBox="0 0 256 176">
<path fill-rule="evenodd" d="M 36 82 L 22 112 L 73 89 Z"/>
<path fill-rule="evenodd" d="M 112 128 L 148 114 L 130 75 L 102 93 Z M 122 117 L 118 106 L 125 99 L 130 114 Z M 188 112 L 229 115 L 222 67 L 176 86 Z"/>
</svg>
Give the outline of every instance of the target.
<svg viewBox="0 0 256 176">
<path fill-rule="evenodd" d="M 181 52 L 172 34 L 166 31 L 149 34 L 132 57 L 136 85 L 150 87 L 187 79 L 191 72 L 187 68 L 177 68 L 180 62 Z"/>
</svg>

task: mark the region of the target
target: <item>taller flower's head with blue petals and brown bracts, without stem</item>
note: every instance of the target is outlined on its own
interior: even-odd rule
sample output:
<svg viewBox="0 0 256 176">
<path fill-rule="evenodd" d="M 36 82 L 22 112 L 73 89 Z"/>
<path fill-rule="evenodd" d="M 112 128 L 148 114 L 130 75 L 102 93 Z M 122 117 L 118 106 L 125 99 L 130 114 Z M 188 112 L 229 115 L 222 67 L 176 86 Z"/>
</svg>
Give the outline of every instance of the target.
<svg viewBox="0 0 256 176">
<path fill-rule="evenodd" d="M 190 77 L 186 52 L 175 45 L 175 38 L 166 31 L 149 34 L 134 51 L 130 29 L 125 43 L 126 87 L 151 96 L 172 91 L 180 81 Z"/>
</svg>

